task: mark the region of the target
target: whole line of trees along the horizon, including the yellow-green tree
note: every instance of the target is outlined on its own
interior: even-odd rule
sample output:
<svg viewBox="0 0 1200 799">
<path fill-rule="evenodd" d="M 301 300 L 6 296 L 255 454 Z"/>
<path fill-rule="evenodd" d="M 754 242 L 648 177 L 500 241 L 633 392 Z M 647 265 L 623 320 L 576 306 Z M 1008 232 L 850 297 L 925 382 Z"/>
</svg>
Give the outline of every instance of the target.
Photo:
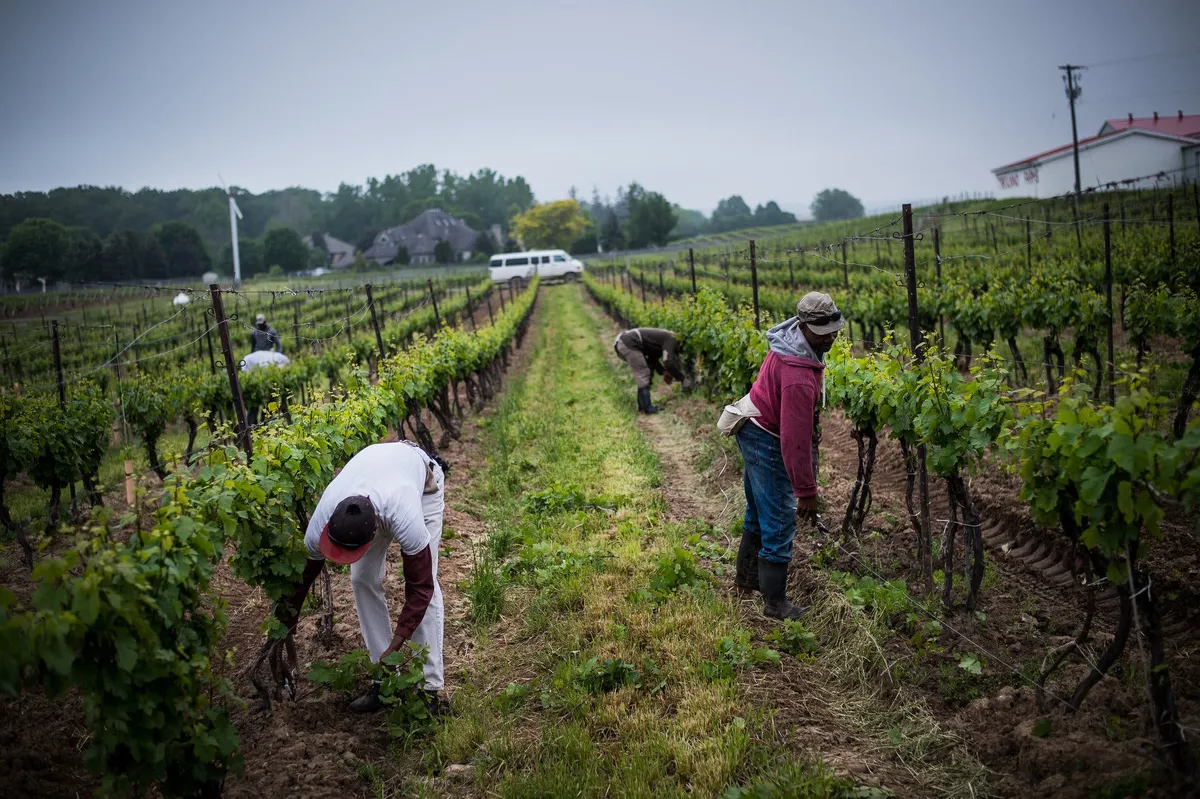
<svg viewBox="0 0 1200 799">
<path fill-rule="evenodd" d="M 475 251 L 491 254 L 486 235 L 498 224 L 505 247 L 562 247 L 576 253 L 637 250 L 667 241 L 752 227 L 790 224 L 796 216 L 770 200 L 754 210 L 738 194 L 722 199 L 712 217 L 670 203 L 634 181 L 616 200 L 578 202 L 571 188 L 566 205 L 535 205 L 521 176 L 493 169 L 461 176 L 422 164 L 408 172 L 341 184 L 322 194 L 286 188 L 253 194 L 232 190 L 244 218 L 239 256 L 244 276 L 293 272 L 324 263 L 324 235 L 371 247 L 380 230 L 440 208 L 480 232 Z M 8 282 L 128 281 L 194 278 L 210 271 L 232 274 L 229 210 L 220 188 L 130 192 L 77 186 L 50 192 L 0 194 L 0 275 Z M 841 190 L 826 190 L 812 203 L 817 220 L 852 218 L 863 205 Z M 311 234 L 310 248 L 300 232 Z M 444 247 L 443 250 L 446 250 Z M 214 259 L 216 253 L 216 259 Z M 445 253 L 443 253 L 445 254 Z M 452 259 L 452 253 L 446 260 Z"/>
</svg>

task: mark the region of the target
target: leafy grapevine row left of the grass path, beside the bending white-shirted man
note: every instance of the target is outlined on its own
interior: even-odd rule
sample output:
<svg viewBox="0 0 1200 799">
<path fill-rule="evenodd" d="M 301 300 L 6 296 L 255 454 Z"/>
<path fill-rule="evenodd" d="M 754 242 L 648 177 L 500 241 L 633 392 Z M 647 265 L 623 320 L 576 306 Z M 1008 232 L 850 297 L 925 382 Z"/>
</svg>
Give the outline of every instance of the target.
<svg viewBox="0 0 1200 799">
<path fill-rule="evenodd" d="M 306 513 L 335 470 L 437 404 L 448 382 L 494 388 L 535 296 L 536 282 L 479 331 L 418 336 L 374 385 L 355 370 L 336 402 L 317 395 L 290 425 L 260 429 L 248 457 L 218 447 L 172 474 L 149 529 L 118 535 L 97 515 L 90 535 L 36 566 L 28 603 L 0 588 L 0 690 L 78 689 L 106 792 L 217 793 L 239 757 L 232 687 L 214 671 L 226 615 L 212 569 L 228 547 L 234 572 L 271 599 L 294 590 Z"/>
</svg>

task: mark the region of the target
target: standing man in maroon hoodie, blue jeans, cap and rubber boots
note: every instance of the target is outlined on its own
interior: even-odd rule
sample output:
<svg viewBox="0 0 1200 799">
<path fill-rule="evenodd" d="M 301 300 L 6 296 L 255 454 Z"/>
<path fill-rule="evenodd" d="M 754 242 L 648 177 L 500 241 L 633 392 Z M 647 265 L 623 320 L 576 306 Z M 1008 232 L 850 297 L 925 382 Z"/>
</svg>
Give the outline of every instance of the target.
<svg viewBox="0 0 1200 799">
<path fill-rule="evenodd" d="M 828 294 L 810 292 L 796 316 L 767 331 L 770 350 L 737 433 L 745 462 L 746 512 L 736 585 L 762 593 L 763 613 L 798 619 L 806 608 L 787 599 L 797 513 L 817 509 L 817 421 L 824 404 L 824 354 L 846 325 Z"/>
</svg>

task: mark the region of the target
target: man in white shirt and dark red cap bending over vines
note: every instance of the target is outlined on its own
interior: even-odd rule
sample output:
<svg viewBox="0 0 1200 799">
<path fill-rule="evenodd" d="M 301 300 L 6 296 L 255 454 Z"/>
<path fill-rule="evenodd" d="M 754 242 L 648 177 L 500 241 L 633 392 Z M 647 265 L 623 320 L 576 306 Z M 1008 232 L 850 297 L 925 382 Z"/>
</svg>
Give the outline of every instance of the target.
<svg viewBox="0 0 1200 799">
<path fill-rule="evenodd" d="M 412 641 L 428 647 L 425 690 L 437 708 L 444 685 L 444 614 L 438 585 L 438 546 L 445 509 L 442 464 L 409 441 L 373 444 L 350 458 L 325 488 L 308 521 L 308 565 L 281 620 L 295 632 L 300 608 L 325 559 L 350 565 L 359 626 L 372 662 Z M 384 596 L 388 547 L 400 545 L 404 605 L 392 627 Z M 383 708 L 376 692 L 350 702 L 355 713 Z"/>
</svg>

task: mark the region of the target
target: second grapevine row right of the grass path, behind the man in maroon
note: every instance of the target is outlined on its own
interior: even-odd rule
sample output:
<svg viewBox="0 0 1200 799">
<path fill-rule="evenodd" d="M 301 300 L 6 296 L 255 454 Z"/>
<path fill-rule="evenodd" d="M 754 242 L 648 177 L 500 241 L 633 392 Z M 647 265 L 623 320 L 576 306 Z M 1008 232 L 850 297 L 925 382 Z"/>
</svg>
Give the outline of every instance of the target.
<svg viewBox="0 0 1200 799">
<path fill-rule="evenodd" d="M 1138 352 L 1138 364 L 1132 368 L 1141 365 L 1151 342 L 1162 337 L 1181 340 L 1183 352 L 1200 355 L 1200 302 L 1196 301 L 1200 246 L 1181 245 L 1180 256 L 1178 265 L 1170 270 L 1147 269 L 1146 274 L 1136 277 L 1128 265 L 1116 270 L 1117 278 L 1126 281 L 1116 310 L 1126 320 L 1129 340 Z M 780 275 L 778 268 L 758 269 L 758 302 L 768 313 L 768 319 L 791 316 L 798 287 L 803 287 L 829 292 L 851 319 L 852 330 L 857 329 L 858 337 L 866 342 L 880 342 L 887 330 L 906 324 L 905 289 L 888 275 L 869 272 L 845 276 L 840 270 L 836 275 L 805 270 L 793 281 L 794 272 L 782 271 L 784 280 L 776 282 L 770 277 Z M 641 270 L 623 275 L 607 269 L 601 274 L 613 283 L 626 280 L 631 287 L 636 284 L 643 293 L 648 290 L 652 299 L 660 292 L 688 294 L 692 287 L 690 280 L 653 274 L 646 276 Z M 744 271 L 739 271 L 737 281 L 730 278 L 724 283 L 701 275 L 696 284 L 719 292 L 732 306 L 737 306 L 752 299 L 748 278 Z M 848 282 L 848 289 L 840 288 L 844 281 Z M 790 287 L 790 290 L 776 286 Z M 1042 352 L 1039 359 L 1030 360 L 1040 361 L 1045 388 L 1051 392 L 1069 373 L 1061 341 L 1069 334 L 1075 367 L 1092 367 L 1094 377 L 1091 385 L 1093 394 L 1099 395 L 1105 362 L 1102 352 L 1110 323 L 1103 294 L 1103 269 L 1081 268 L 1062 258 L 1032 264 L 1024 260 L 989 264 L 985 270 L 960 268 L 954 275 L 947 274 L 944 281 L 938 280 L 937 284 L 919 287 L 918 306 L 923 329 L 938 330 L 940 320 L 944 320 L 953 330 L 958 342 L 955 354 L 961 353 L 966 365 L 971 361 L 972 344 L 984 352 L 997 344 L 1006 346 L 1006 355 L 1012 356 L 1009 370 L 1013 380 L 1022 384 L 1030 384 L 1031 372 L 1033 378 L 1037 373 L 1026 360 L 1031 354 L 1021 352 L 1018 340 L 1026 334 L 1032 335 L 1034 341 L 1040 341 Z M 1187 411 L 1198 391 L 1200 358 L 1193 356 L 1186 389 L 1176 405 L 1176 431 L 1186 426 Z"/>
</svg>

